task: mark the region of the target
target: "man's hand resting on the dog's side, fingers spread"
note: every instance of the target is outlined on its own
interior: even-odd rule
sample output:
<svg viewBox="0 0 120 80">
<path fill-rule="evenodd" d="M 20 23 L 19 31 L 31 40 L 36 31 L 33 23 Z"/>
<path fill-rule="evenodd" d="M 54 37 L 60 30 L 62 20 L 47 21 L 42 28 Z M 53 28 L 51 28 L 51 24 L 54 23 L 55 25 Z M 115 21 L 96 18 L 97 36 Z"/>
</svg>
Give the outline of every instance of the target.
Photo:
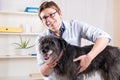
<svg viewBox="0 0 120 80">
<path fill-rule="evenodd" d="M 73 61 L 74 62 L 80 61 L 80 65 L 78 67 L 79 68 L 78 73 L 80 73 L 87 69 L 87 67 L 90 65 L 92 60 L 89 58 L 88 55 L 82 55 L 82 56 L 75 58 Z"/>
</svg>

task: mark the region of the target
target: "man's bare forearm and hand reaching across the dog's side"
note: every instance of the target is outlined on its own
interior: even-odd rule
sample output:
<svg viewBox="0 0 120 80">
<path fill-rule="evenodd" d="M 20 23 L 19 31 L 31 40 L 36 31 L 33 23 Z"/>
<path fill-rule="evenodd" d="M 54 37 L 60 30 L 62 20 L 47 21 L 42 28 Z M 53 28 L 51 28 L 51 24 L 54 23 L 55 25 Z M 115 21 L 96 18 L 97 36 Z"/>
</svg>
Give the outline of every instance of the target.
<svg viewBox="0 0 120 80">
<path fill-rule="evenodd" d="M 105 47 L 108 44 L 108 38 L 98 38 L 91 49 L 91 51 L 87 55 L 80 56 L 78 58 L 75 58 L 74 61 L 80 61 L 80 70 L 78 73 L 84 71 L 91 63 L 91 61 L 101 52 L 105 49 Z"/>
</svg>

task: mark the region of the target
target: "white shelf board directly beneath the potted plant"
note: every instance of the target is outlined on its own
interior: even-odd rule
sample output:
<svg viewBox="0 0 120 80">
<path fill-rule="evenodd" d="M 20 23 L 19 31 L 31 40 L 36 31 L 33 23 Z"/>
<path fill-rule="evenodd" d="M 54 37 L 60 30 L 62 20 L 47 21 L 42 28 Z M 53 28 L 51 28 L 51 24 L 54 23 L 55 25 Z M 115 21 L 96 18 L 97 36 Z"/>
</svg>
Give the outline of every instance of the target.
<svg viewBox="0 0 120 80">
<path fill-rule="evenodd" d="M 0 59 L 21 59 L 21 58 L 36 58 L 36 56 L 30 55 L 0 55 Z"/>
</svg>

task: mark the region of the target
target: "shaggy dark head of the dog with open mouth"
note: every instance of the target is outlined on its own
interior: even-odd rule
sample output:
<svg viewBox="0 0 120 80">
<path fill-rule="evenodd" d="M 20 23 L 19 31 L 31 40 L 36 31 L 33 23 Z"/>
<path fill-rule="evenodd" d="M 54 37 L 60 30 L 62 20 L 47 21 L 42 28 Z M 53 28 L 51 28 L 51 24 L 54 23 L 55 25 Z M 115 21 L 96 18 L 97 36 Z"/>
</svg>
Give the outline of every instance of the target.
<svg viewBox="0 0 120 80">
<path fill-rule="evenodd" d="M 64 39 L 56 36 L 43 36 L 39 39 L 39 43 L 40 54 L 47 62 L 57 59 L 67 45 Z"/>
</svg>

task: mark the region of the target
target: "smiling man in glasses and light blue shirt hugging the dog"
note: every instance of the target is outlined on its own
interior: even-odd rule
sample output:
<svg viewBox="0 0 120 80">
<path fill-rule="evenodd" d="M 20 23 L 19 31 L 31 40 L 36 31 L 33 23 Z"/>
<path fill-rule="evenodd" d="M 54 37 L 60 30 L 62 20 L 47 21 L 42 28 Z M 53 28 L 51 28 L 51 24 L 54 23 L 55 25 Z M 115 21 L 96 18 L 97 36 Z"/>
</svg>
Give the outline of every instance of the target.
<svg viewBox="0 0 120 80">
<path fill-rule="evenodd" d="M 93 48 L 87 55 L 80 56 L 73 61 L 80 61 L 79 73 L 84 71 L 91 61 L 107 46 L 111 41 L 111 37 L 108 33 L 101 29 L 89 25 L 77 20 L 63 21 L 60 8 L 52 1 L 46 1 L 41 4 L 39 8 L 39 17 L 43 24 L 47 26 L 43 32 L 43 35 L 56 35 L 64 38 L 68 43 L 80 46 L 81 39 L 87 39 L 94 43 Z M 37 40 L 40 38 L 38 36 Z M 38 42 L 38 41 L 37 41 Z M 37 43 L 39 44 L 39 43 Z M 37 47 L 36 44 L 36 47 Z M 38 47 L 37 47 L 38 49 Z M 44 80 L 54 80 L 52 76 L 52 68 L 56 66 L 56 62 L 45 63 L 39 50 L 37 54 L 38 64 L 40 66 L 40 73 L 48 77 L 44 77 Z"/>
</svg>

